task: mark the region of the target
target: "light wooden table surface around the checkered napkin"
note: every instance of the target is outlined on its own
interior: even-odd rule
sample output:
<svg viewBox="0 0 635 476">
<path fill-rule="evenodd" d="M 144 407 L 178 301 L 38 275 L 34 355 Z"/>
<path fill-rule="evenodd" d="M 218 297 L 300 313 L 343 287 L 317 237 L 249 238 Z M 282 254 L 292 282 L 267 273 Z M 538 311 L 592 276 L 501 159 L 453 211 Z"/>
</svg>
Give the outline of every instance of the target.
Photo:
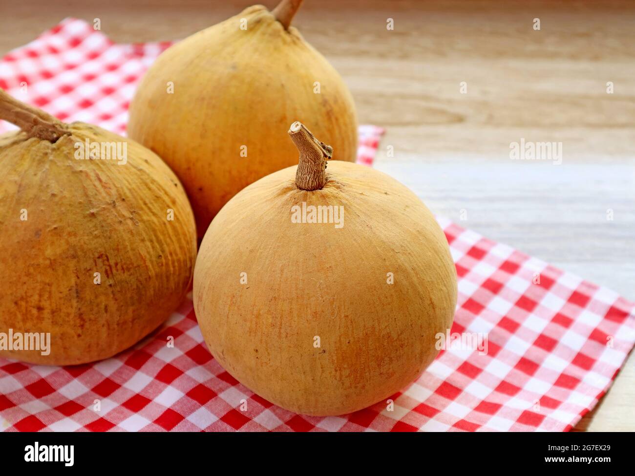
<svg viewBox="0 0 635 476">
<path fill-rule="evenodd" d="M 182 38 L 249 4 L 3 2 L 0 54 L 65 17 L 100 18 L 129 43 Z M 305 0 L 294 24 L 344 76 L 360 122 L 386 128 L 378 169 L 433 212 L 635 299 L 635 2 Z M 562 142 L 561 165 L 510 160 L 521 138 Z M 577 430 L 635 430 L 632 355 Z"/>
</svg>

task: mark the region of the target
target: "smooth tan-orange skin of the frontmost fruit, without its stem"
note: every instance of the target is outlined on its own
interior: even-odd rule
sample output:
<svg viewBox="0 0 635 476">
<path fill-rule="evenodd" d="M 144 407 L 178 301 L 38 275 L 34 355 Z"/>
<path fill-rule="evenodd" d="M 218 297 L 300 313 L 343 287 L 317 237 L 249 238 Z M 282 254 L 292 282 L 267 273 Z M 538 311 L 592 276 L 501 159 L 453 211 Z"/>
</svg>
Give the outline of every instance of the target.
<svg viewBox="0 0 635 476">
<path fill-rule="evenodd" d="M 456 269 L 434 216 L 396 180 L 329 161 L 326 185 L 304 191 L 296 169 L 251 184 L 215 217 L 194 308 L 212 355 L 250 390 L 293 412 L 340 415 L 431 364 L 453 320 Z M 344 206 L 344 226 L 292 223 L 303 201 Z"/>
</svg>

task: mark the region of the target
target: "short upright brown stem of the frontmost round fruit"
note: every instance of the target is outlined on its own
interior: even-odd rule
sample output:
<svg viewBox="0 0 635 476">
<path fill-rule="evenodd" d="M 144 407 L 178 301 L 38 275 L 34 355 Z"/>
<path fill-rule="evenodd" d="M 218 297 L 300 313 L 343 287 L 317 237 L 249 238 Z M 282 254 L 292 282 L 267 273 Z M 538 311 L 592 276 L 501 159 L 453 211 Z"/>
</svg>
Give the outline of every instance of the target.
<svg viewBox="0 0 635 476">
<path fill-rule="evenodd" d="M 321 189 L 326 184 L 326 161 L 333 156 L 333 147 L 320 142 L 297 121 L 291 124 L 289 135 L 300 153 L 295 185 L 302 190 Z"/>
</svg>

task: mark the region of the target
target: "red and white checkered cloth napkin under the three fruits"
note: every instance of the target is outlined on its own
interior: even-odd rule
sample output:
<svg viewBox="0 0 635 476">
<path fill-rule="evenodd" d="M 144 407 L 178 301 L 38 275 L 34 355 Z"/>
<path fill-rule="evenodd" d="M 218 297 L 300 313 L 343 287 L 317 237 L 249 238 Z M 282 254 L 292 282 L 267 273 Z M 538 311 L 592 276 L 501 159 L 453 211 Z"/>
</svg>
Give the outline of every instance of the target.
<svg viewBox="0 0 635 476">
<path fill-rule="evenodd" d="M 137 80 L 167 46 L 114 44 L 67 19 L 1 60 L 0 87 L 65 121 L 123 133 Z M 372 163 L 381 134 L 360 127 L 360 162 Z M 631 350 L 635 304 L 450 221 L 439 223 L 458 274 L 451 332 L 486 336 L 487 352 L 450 345 L 392 395 L 392 404 L 330 418 L 272 405 L 211 357 L 187 299 L 161 329 L 96 364 L 0 359 L 0 429 L 570 430 Z"/>
</svg>

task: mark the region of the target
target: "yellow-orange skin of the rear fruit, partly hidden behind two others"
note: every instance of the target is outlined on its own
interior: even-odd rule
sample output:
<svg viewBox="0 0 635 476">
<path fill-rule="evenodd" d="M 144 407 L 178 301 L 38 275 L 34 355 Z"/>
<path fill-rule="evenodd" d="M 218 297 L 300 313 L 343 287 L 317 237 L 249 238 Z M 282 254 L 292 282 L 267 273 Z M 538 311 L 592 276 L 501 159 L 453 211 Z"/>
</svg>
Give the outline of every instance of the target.
<svg viewBox="0 0 635 476">
<path fill-rule="evenodd" d="M 284 131 L 303 118 L 333 146 L 334 160 L 355 161 L 357 118 L 344 81 L 295 28 L 257 5 L 157 58 L 130 105 L 128 135 L 177 173 L 201 238 L 232 196 L 297 163 Z"/>
</svg>

